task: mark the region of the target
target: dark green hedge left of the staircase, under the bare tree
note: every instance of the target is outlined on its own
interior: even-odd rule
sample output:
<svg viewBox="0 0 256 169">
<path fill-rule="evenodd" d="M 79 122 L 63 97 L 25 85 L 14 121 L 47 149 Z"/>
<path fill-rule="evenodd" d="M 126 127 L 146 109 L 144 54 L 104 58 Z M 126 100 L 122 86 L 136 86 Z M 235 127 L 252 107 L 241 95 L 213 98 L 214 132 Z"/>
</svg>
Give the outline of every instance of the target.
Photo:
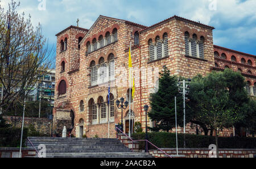
<svg viewBox="0 0 256 169">
<path fill-rule="evenodd" d="M 21 128 L 0 128 L 0 147 L 19 147 Z M 23 129 L 22 146 L 25 146 L 28 129 Z"/>
</svg>

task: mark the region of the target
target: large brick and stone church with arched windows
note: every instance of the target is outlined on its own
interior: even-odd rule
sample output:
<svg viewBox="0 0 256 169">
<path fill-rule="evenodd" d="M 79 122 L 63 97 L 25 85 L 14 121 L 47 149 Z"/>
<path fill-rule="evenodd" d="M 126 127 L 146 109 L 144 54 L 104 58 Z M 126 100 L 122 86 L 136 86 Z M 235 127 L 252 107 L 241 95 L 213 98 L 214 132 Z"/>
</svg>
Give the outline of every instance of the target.
<svg viewBox="0 0 256 169">
<path fill-rule="evenodd" d="M 123 119 L 129 132 L 129 115 L 146 126 L 143 106 L 154 86 L 156 70 L 192 78 L 225 68 L 241 71 L 246 90 L 256 96 L 256 56 L 213 45 L 214 27 L 172 16 L 150 27 L 100 15 L 90 29 L 70 26 L 57 33 L 54 132 L 64 126 L 76 137 L 115 137 L 115 124 Z M 115 100 L 129 98 L 128 56 L 132 46 L 135 94 L 129 108 L 117 108 Z M 146 74 L 146 75 L 145 75 Z M 146 78 L 143 78 L 145 77 Z M 108 96 L 110 84 L 110 97 Z M 109 99 L 108 99 L 109 98 Z M 121 118 L 121 115 L 123 116 Z M 154 122 L 147 119 L 148 126 Z M 133 132 L 133 128 L 130 128 Z M 183 129 L 179 129 L 183 132 Z M 188 133 L 196 129 L 187 125 Z M 223 131 L 222 136 L 230 133 Z"/>
</svg>

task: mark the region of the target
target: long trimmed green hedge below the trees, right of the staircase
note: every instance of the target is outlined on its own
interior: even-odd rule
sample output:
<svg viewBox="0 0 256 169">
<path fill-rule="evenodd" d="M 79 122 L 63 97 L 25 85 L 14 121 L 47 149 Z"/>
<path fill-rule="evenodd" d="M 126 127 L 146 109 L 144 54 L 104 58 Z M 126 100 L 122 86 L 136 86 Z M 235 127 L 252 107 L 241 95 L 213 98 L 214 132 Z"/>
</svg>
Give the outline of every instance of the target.
<svg viewBox="0 0 256 169">
<path fill-rule="evenodd" d="M 144 140 L 145 133 L 133 133 L 134 140 Z M 183 148 L 184 134 L 177 134 L 178 147 Z M 148 141 L 161 148 L 175 148 L 176 134 L 167 132 L 150 132 Z M 214 136 L 202 136 L 195 134 L 185 134 L 187 148 L 208 148 L 210 144 L 215 144 Z M 256 138 L 254 137 L 218 137 L 218 146 L 223 149 L 256 149 Z M 145 142 L 139 142 L 140 149 L 144 149 Z M 153 146 L 149 147 L 154 149 Z"/>
</svg>

